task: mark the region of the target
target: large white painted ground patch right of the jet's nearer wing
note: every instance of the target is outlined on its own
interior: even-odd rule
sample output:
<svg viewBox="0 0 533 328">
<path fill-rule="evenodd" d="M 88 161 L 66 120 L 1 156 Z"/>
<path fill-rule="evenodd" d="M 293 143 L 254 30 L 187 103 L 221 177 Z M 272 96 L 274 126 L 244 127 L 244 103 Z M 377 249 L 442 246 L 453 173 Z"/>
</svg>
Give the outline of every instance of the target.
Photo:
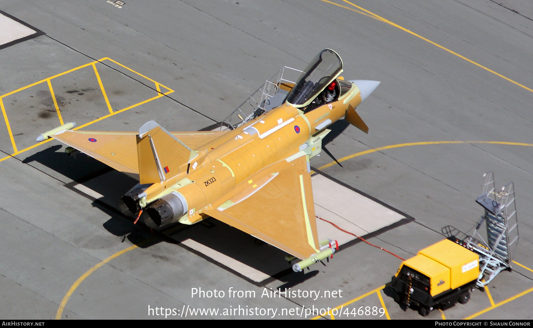
<svg viewBox="0 0 533 328">
<path fill-rule="evenodd" d="M 313 176 L 311 182 L 315 214 L 358 236 L 372 233 L 405 218 L 319 174 Z M 317 229 L 319 240 L 333 239 L 339 244 L 345 244 L 356 238 L 319 219 Z"/>
</svg>

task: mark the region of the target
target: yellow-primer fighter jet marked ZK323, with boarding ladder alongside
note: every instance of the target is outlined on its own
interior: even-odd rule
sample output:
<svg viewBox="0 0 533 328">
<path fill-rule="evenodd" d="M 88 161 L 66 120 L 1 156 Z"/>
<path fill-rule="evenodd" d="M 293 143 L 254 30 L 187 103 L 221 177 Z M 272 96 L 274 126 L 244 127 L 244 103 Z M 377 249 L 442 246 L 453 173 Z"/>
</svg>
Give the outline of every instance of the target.
<svg viewBox="0 0 533 328">
<path fill-rule="evenodd" d="M 301 72 L 295 82 L 284 78 Z M 53 137 L 139 184 L 121 210 L 160 229 L 213 217 L 299 259 L 295 271 L 335 251 L 319 243 L 309 159 L 321 152 L 333 122 L 344 118 L 368 133 L 355 108 L 379 85 L 344 81 L 343 63 L 323 50 L 302 72 L 284 67 L 218 131 L 168 132 L 155 121 L 139 132 L 71 130 L 68 123 L 39 135 Z M 249 114 L 247 114 L 249 112 Z"/>
</svg>

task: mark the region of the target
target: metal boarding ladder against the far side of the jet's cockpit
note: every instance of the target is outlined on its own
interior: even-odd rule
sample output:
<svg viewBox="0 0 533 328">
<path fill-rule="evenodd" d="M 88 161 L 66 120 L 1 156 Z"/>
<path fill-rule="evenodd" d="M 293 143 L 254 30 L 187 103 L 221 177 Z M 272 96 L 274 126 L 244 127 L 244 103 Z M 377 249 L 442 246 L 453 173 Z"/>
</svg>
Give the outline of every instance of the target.
<svg viewBox="0 0 533 328">
<path fill-rule="evenodd" d="M 274 76 L 266 80 L 264 85 L 248 97 L 230 116 L 222 121 L 221 130 L 233 130 L 264 112 L 281 105 L 288 92 L 279 92 L 281 83 L 295 84 L 301 70 L 284 66 Z M 279 99 L 278 99 L 279 98 Z"/>
</svg>

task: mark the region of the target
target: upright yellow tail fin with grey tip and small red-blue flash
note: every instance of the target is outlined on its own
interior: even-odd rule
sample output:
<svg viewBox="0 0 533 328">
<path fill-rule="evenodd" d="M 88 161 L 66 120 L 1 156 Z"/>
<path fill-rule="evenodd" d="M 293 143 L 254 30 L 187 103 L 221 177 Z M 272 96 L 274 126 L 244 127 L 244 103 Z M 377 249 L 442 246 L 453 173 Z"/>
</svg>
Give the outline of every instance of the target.
<svg viewBox="0 0 533 328">
<path fill-rule="evenodd" d="M 166 181 L 187 169 L 196 151 L 177 140 L 155 121 L 149 121 L 137 135 L 137 158 L 141 184 Z"/>
</svg>

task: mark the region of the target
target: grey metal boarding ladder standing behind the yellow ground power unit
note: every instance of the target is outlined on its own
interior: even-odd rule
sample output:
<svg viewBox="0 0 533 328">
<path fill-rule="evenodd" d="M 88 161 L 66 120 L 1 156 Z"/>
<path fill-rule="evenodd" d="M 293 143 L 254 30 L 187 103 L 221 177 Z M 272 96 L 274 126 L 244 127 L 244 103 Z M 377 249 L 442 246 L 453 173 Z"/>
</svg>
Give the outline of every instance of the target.
<svg viewBox="0 0 533 328">
<path fill-rule="evenodd" d="M 511 182 L 497 192 L 494 174 L 489 172 L 483 177 L 483 193 L 476 202 L 483 207 L 484 215 L 472 228 L 472 233 L 462 233 L 452 226 L 442 228 L 442 233 L 450 240 L 478 253 L 479 287 L 486 286 L 502 270 L 512 269 L 513 255 L 519 239 L 514 184 Z M 486 239 L 480 234 L 483 231 L 483 223 L 487 232 Z"/>
</svg>

